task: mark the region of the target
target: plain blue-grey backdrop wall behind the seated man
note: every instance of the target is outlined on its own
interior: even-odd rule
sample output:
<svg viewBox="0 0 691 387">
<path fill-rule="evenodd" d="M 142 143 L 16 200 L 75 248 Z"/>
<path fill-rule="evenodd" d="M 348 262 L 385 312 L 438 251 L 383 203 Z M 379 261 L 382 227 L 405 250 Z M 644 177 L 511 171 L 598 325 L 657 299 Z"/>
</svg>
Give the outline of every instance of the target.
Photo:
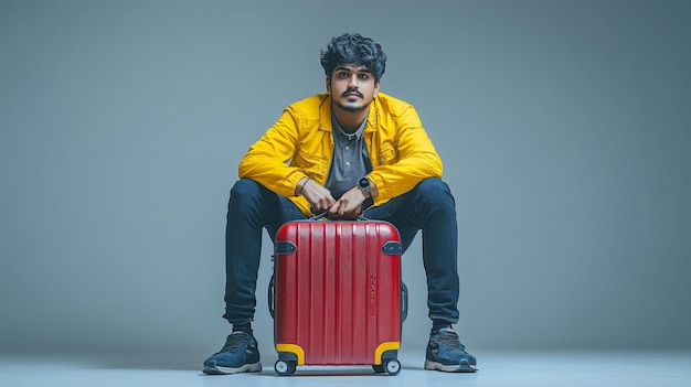
<svg viewBox="0 0 691 387">
<path fill-rule="evenodd" d="M 346 31 L 383 45 L 382 90 L 445 160 L 469 348 L 690 348 L 689 20 L 688 1 L 1 0 L 0 351 L 216 351 L 237 162 L 325 89 L 319 50 Z M 404 280 L 422 350 L 419 238 Z"/>
</svg>

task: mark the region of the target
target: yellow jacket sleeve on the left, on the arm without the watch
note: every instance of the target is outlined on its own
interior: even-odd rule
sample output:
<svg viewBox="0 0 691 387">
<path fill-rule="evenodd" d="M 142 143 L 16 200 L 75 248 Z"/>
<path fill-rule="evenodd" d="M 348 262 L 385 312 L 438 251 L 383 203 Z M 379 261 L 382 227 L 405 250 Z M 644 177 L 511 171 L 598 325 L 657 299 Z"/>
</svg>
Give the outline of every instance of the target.
<svg viewBox="0 0 691 387">
<path fill-rule="evenodd" d="M 295 196 L 295 187 L 306 174 L 287 164 L 296 153 L 299 117 L 288 107 L 280 118 L 262 136 L 241 160 L 237 173 L 252 179 L 284 196 Z"/>
</svg>

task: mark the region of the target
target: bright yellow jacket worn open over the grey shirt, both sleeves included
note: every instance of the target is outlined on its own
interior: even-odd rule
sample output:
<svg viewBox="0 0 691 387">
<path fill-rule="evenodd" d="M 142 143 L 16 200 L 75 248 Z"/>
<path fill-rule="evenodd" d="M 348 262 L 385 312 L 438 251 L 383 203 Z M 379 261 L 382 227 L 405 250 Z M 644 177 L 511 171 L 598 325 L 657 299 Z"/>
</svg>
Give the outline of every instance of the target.
<svg viewBox="0 0 691 387">
<path fill-rule="evenodd" d="M 373 168 L 368 178 L 379 191 L 374 205 L 411 191 L 427 178 L 442 178 L 442 159 L 412 105 L 379 93 L 362 136 Z M 284 110 L 249 147 L 238 175 L 287 196 L 310 215 L 309 203 L 295 196 L 295 189 L 305 176 L 325 185 L 332 152 L 331 97 L 318 94 Z"/>
</svg>

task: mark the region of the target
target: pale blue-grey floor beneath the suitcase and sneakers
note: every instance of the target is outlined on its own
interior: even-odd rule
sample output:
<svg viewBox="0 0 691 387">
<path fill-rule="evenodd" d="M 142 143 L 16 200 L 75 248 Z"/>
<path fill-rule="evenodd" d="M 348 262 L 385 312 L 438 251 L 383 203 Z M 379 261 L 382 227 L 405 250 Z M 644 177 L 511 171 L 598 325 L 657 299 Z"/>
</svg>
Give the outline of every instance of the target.
<svg viewBox="0 0 691 387">
<path fill-rule="evenodd" d="M 370 367 L 298 367 L 293 376 L 276 376 L 274 359 L 262 373 L 205 376 L 195 365 L 139 366 L 135 359 L 103 362 L 99 357 L 35 361 L 0 357 L 0 386 L 691 386 L 691 352 L 629 353 L 476 353 L 476 374 L 422 369 L 424 353 L 401 352 L 397 376 L 375 375 Z M 146 363 L 146 362 L 145 362 Z"/>
</svg>

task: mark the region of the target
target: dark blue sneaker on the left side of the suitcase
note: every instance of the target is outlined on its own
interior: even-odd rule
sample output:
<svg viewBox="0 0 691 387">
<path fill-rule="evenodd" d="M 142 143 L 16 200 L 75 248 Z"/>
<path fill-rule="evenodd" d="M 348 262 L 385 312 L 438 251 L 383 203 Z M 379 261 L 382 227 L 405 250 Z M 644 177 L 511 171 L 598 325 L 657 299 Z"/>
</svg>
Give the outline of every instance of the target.
<svg viewBox="0 0 691 387">
<path fill-rule="evenodd" d="M 209 375 L 226 375 L 236 373 L 258 373 L 259 347 L 252 334 L 243 331 L 231 333 L 223 348 L 204 361 L 202 372 Z"/>
</svg>

